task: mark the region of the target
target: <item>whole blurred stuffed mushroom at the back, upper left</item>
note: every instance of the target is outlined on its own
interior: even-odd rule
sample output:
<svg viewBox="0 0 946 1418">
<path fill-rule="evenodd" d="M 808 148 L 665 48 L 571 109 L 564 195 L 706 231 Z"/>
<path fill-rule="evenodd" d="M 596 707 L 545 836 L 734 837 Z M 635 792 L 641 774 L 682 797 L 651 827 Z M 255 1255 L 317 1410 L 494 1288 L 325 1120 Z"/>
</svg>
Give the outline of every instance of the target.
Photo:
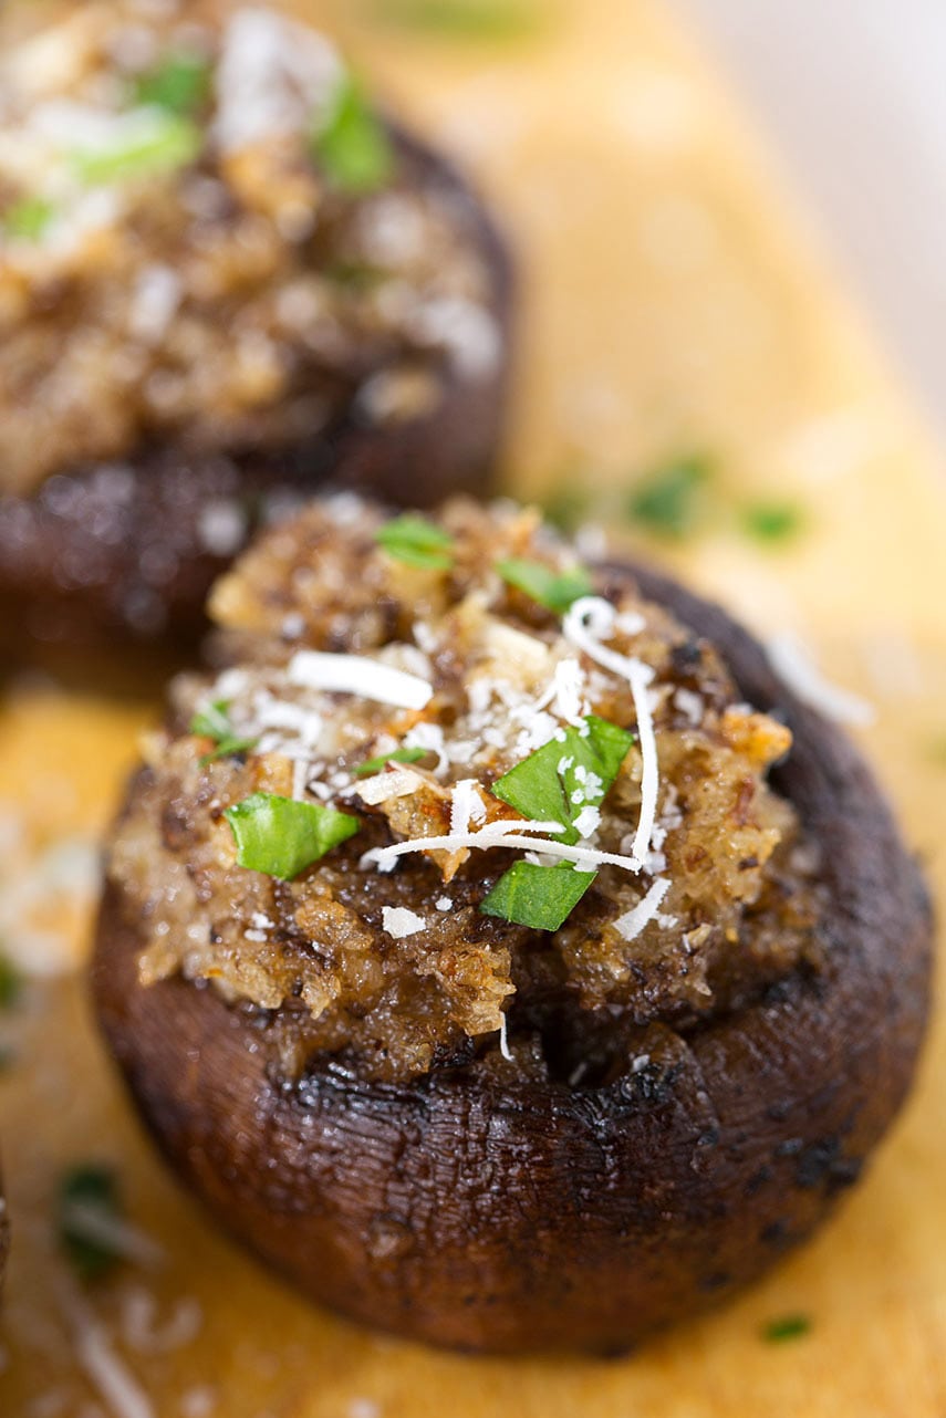
<svg viewBox="0 0 946 1418">
<path fill-rule="evenodd" d="M 193 640 L 252 529 L 326 481 L 482 488 L 511 274 L 461 177 L 275 10 L 24 11 L 0 50 L 13 648 Z"/>
</svg>

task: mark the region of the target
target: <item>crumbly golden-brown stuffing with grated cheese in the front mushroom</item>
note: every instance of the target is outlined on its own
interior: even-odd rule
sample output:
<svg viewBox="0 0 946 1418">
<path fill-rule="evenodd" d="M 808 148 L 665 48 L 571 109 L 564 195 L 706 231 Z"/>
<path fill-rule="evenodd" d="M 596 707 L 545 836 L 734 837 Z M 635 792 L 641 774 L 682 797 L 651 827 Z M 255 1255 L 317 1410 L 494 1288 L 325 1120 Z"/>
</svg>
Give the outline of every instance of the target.
<svg viewBox="0 0 946 1418">
<path fill-rule="evenodd" d="M 218 584 L 228 668 L 176 682 L 111 847 L 149 937 L 142 983 L 182 973 L 271 1011 L 286 1068 L 352 1052 L 372 1076 L 411 1078 L 471 1044 L 496 1066 L 556 1068 L 563 1032 L 679 1027 L 817 961 L 817 854 L 767 783 L 791 735 L 742 702 L 713 647 L 607 577 L 569 634 L 495 574 L 511 557 L 574 564 L 529 510 L 450 503 L 447 567 L 383 550 L 382 523 L 325 499 Z M 330 682 L 295 672 L 318 657 Z M 418 671 L 423 695 L 393 692 Z M 189 725 L 218 702 L 251 747 L 208 757 Z M 570 845 L 492 790 L 542 744 L 581 742 L 589 713 L 630 749 L 610 786 L 562 749 Z M 277 879 L 238 864 L 224 817 L 252 794 L 359 827 Z M 593 882 L 557 930 L 484 915 L 515 862 Z"/>
</svg>

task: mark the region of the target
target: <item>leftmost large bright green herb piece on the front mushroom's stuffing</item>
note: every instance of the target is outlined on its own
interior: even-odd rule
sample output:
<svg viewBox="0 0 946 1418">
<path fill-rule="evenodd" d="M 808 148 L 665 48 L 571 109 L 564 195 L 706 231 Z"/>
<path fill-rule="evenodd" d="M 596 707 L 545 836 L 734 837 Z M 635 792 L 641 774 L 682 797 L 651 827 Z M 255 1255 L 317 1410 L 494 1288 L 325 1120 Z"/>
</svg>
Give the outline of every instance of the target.
<svg viewBox="0 0 946 1418">
<path fill-rule="evenodd" d="M 228 808 L 237 861 L 251 872 L 289 882 L 333 847 L 353 837 L 356 817 L 321 803 L 296 803 L 271 793 L 254 793 Z"/>
</svg>

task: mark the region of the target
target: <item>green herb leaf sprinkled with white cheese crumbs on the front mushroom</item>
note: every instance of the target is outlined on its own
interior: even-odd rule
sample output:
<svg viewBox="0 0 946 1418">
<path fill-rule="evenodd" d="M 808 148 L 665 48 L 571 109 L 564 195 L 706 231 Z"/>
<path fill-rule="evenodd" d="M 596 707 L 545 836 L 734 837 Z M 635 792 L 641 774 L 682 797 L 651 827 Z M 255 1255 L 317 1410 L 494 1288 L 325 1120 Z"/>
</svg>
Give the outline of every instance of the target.
<svg viewBox="0 0 946 1418">
<path fill-rule="evenodd" d="M 634 735 L 590 715 L 583 729 L 572 725 L 509 769 L 492 786 L 495 797 L 533 822 L 563 822 L 560 842 L 581 835 L 574 820 L 586 807 L 600 807 L 611 788 Z"/>
</svg>

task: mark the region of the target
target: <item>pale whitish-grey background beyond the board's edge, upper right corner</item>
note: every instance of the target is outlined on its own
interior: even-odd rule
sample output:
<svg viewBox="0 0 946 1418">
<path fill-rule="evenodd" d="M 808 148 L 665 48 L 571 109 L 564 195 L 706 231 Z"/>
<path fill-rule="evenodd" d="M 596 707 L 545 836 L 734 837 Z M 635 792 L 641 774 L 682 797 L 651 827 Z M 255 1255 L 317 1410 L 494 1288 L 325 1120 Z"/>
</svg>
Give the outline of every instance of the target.
<svg viewBox="0 0 946 1418">
<path fill-rule="evenodd" d="M 946 4 L 672 0 L 946 430 Z"/>
</svg>

